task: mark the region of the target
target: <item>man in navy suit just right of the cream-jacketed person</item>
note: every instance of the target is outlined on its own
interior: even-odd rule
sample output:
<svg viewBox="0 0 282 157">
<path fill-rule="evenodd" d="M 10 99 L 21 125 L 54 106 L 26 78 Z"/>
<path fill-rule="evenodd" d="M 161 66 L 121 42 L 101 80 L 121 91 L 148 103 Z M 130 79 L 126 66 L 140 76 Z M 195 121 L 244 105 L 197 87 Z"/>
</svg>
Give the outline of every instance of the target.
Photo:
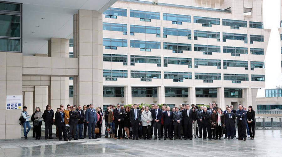
<svg viewBox="0 0 282 157">
<path fill-rule="evenodd" d="M 159 109 L 159 106 L 155 104 L 155 109 L 152 109 L 152 119 L 154 121 L 154 139 L 161 139 L 160 134 L 160 125 L 161 125 L 161 118 L 162 118 L 162 110 Z"/>
</svg>

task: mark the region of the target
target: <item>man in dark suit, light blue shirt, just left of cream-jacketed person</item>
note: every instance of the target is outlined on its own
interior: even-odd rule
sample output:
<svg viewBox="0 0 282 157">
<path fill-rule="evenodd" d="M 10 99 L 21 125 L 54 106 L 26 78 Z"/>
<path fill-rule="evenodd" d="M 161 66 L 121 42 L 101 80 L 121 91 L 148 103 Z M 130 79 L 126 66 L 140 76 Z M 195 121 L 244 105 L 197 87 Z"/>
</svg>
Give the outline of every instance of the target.
<svg viewBox="0 0 282 157">
<path fill-rule="evenodd" d="M 141 121 L 141 112 L 139 109 L 137 109 L 137 104 L 133 105 L 133 109 L 130 110 L 130 122 L 132 126 L 132 135 L 133 140 L 136 137 L 136 140 L 138 140 L 138 128 Z"/>
</svg>

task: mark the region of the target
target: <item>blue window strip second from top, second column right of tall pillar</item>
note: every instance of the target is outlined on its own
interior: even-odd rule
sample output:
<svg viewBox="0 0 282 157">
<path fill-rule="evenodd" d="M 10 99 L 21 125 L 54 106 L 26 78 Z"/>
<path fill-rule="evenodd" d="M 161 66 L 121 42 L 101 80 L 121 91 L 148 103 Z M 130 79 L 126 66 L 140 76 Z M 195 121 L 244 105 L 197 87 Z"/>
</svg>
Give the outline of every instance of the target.
<svg viewBox="0 0 282 157">
<path fill-rule="evenodd" d="M 150 26 L 130 25 L 130 35 L 134 35 L 134 33 L 148 33 L 148 34 L 160 35 L 160 28 L 150 27 Z"/>
</svg>

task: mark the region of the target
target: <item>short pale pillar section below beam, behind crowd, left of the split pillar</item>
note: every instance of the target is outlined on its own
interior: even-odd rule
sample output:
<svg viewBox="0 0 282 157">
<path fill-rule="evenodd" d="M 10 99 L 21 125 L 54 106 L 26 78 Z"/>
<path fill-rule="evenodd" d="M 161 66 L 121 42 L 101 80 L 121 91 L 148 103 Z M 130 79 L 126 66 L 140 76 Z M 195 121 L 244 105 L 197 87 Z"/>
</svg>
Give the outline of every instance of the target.
<svg viewBox="0 0 282 157">
<path fill-rule="evenodd" d="M 44 111 L 48 102 L 48 89 L 47 86 L 35 86 L 34 87 L 34 109 L 39 107 L 41 111 Z"/>
</svg>

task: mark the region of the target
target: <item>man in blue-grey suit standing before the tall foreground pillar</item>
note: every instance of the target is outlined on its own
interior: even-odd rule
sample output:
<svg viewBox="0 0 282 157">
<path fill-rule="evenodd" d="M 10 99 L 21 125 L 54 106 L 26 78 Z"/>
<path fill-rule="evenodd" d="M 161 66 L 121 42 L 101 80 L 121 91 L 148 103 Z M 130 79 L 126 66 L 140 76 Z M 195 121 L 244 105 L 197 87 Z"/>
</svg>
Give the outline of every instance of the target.
<svg viewBox="0 0 282 157">
<path fill-rule="evenodd" d="M 88 124 L 88 138 L 97 139 L 95 137 L 95 126 L 97 123 L 96 109 L 93 109 L 93 104 L 90 104 L 90 108 L 85 112 L 86 123 Z M 92 131 L 92 132 L 91 132 Z"/>
</svg>

